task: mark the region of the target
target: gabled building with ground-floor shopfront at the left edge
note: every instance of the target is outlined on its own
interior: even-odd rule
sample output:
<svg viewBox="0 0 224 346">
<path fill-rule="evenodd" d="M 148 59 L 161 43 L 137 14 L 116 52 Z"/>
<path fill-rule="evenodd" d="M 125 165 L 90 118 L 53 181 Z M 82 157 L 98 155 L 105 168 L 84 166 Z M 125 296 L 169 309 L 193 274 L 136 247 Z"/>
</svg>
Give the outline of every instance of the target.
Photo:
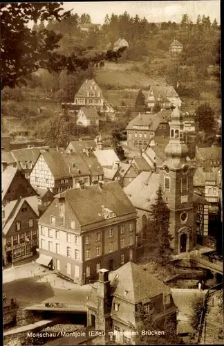
<svg viewBox="0 0 224 346">
<path fill-rule="evenodd" d="M 10 201 L 2 208 L 4 265 L 36 254 L 38 246 L 37 196 Z"/>
</svg>

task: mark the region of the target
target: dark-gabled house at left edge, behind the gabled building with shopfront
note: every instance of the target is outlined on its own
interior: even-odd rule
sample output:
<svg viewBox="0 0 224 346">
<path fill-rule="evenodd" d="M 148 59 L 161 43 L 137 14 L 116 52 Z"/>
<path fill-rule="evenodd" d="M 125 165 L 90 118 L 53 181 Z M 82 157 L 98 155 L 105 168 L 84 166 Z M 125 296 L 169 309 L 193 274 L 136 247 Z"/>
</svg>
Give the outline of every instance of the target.
<svg viewBox="0 0 224 346">
<path fill-rule="evenodd" d="M 37 195 L 25 176 L 15 167 L 8 166 L 1 175 L 1 203 L 5 206 L 20 197 Z"/>
</svg>

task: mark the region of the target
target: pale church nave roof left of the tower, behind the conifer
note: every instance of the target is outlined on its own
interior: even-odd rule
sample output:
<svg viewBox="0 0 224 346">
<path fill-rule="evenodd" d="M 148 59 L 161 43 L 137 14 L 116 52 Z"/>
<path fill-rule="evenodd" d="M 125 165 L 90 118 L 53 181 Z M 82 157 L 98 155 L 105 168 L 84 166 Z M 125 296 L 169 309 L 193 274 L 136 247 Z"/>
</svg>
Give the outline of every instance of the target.
<svg viewBox="0 0 224 346">
<path fill-rule="evenodd" d="M 124 188 L 124 192 L 135 208 L 150 210 L 151 204 L 155 203 L 159 185 L 160 174 L 142 172 Z"/>
</svg>

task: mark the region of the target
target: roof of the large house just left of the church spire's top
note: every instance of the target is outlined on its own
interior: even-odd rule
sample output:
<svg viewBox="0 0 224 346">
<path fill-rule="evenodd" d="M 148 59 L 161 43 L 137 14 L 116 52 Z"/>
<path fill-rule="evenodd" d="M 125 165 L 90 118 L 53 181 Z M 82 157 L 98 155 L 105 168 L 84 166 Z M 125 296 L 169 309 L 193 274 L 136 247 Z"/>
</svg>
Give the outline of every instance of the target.
<svg viewBox="0 0 224 346">
<path fill-rule="evenodd" d="M 140 113 L 140 115 L 136 116 L 136 118 L 133 118 L 129 124 L 127 125 L 126 129 L 129 130 L 136 130 L 134 126 L 144 126 L 147 127 L 147 131 L 156 131 L 158 129 L 158 126 L 160 123 L 167 122 L 165 117 L 165 111 L 159 112 L 156 114 L 149 114 L 149 113 Z M 138 129 L 141 130 L 141 129 Z M 142 129 L 144 131 L 144 129 Z"/>
</svg>

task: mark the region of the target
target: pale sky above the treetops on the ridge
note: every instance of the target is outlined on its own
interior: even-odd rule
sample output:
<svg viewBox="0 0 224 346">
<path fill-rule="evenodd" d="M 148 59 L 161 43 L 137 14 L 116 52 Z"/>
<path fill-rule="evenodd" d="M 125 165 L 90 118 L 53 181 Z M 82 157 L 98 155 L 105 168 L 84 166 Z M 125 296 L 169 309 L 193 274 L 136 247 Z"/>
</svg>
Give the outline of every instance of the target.
<svg viewBox="0 0 224 346">
<path fill-rule="evenodd" d="M 220 0 L 221 1 L 221 0 Z M 209 16 L 211 21 L 220 24 L 219 0 L 186 0 L 186 1 L 82 1 L 64 2 L 64 9 L 76 12 L 78 15 L 86 12 L 91 16 L 92 23 L 103 24 L 106 14 L 121 15 L 127 11 L 131 17 L 138 15 L 146 17 L 151 22 L 176 21 L 180 23 L 183 14 L 187 13 L 193 22 L 198 15 Z"/>
</svg>

